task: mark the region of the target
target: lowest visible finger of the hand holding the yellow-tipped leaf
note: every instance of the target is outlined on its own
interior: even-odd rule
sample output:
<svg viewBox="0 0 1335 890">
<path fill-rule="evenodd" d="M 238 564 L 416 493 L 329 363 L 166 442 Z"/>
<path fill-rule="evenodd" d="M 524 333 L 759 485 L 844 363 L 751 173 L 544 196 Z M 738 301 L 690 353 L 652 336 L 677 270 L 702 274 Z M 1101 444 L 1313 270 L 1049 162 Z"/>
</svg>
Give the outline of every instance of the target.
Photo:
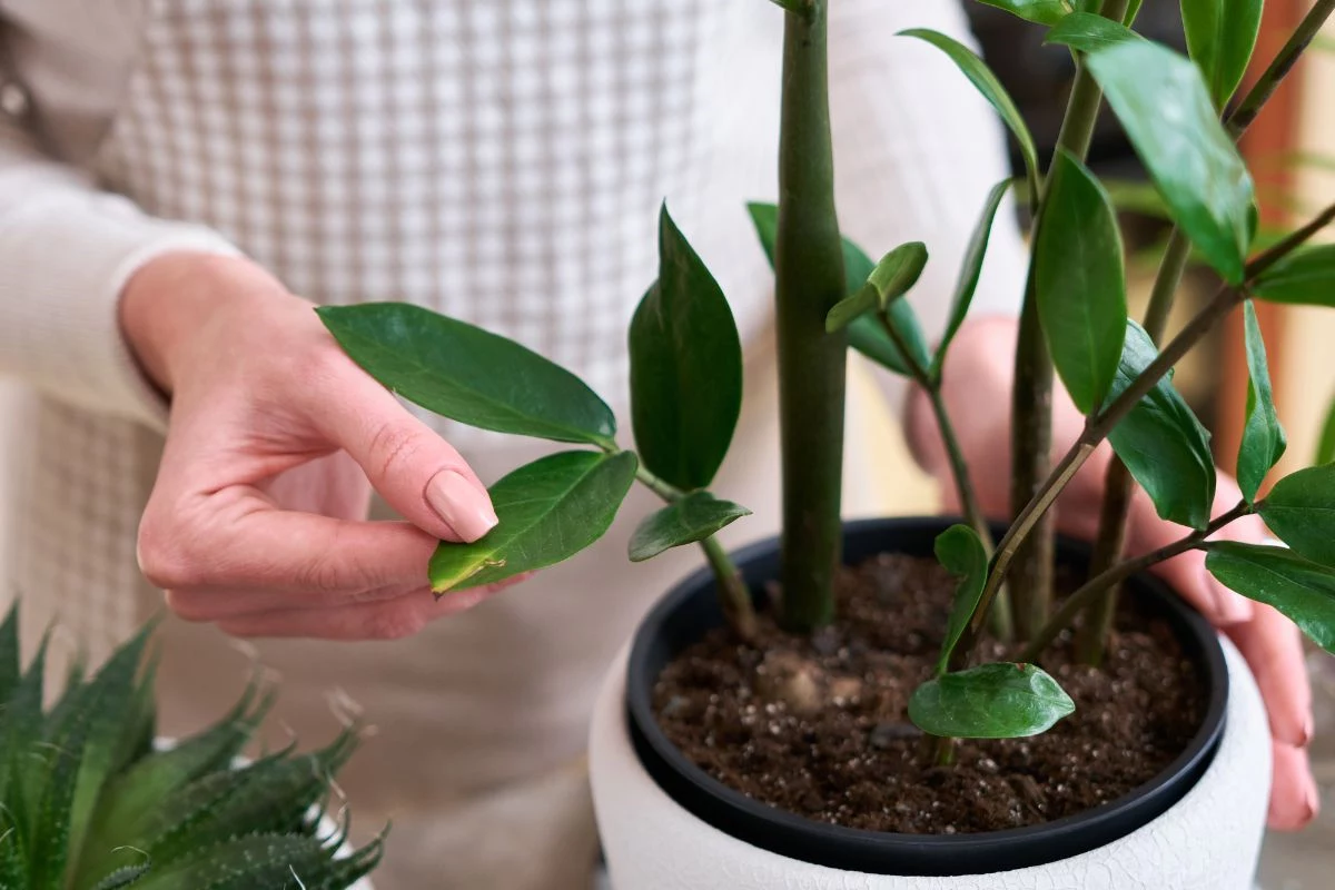
<svg viewBox="0 0 1335 890">
<path fill-rule="evenodd" d="M 430 590 L 379 603 L 334 608 L 286 608 L 219 622 L 235 636 L 298 636 L 311 639 L 366 640 L 403 639 L 421 632 L 437 618 L 454 615 L 490 599 L 509 584 L 446 594 L 439 600 Z"/>
</svg>

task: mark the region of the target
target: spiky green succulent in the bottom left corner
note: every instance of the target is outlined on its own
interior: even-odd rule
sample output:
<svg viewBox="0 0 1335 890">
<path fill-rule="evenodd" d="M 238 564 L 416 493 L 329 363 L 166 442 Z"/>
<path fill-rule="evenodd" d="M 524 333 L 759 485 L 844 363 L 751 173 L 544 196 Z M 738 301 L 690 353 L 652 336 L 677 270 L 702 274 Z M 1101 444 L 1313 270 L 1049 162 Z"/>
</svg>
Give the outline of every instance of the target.
<svg viewBox="0 0 1335 890">
<path fill-rule="evenodd" d="M 162 750 L 151 627 L 95 675 L 76 667 L 49 709 L 47 640 L 21 669 L 17 628 L 16 606 L 0 626 L 0 887 L 344 890 L 379 862 L 379 839 L 340 855 L 347 823 L 320 827 L 354 729 L 236 766 L 272 702 L 251 685 L 215 726 Z"/>
</svg>

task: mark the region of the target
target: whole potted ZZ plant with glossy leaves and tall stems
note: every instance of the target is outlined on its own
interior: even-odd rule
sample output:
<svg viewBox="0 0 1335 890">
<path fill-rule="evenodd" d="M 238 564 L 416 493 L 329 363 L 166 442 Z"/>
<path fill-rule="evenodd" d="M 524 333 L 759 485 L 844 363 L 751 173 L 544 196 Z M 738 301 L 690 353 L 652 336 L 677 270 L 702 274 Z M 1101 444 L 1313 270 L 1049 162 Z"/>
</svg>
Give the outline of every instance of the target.
<svg viewBox="0 0 1335 890">
<path fill-rule="evenodd" d="M 1318 0 L 1242 93 L 1262 0 L 1183 0 L 1189 57 L 1133 31 L 1136 0 L 985 0 L 1045 28 L 1048 43 L 1067 47 L 1076 60 L 1067 115 L 1047 164 L 1015 103 L 979 56 L 941 33 L 905 32 L 953 60 L 1000 115 L 1025 163 L 1021 177 L 997 183 L 987 196 L 934 348 L 904 299 L 928 262 L 926 247 L 901 244 L 873 263 L 840 236 L 826 95 L 830 3 L 774 1 L 785 15 L 782 200 L 777 207 L 753 204 L 750 211 L 776 275 L 784 454 L 781 620 L 792 631 L 809 632 L 833 616 L 844 375 L 852 346 L 926 392 L 965 512 L 965 522 L 936 542 L 936 555 L 957 578 L 957 590 L 936 677 L 916 691 L 909 707 L 913 722 L 937 738 L 929 746 L 933 757 L 949 761 L 953 738 L 1032 735 L 1069 714 L 1071 699 L 1036 664 L 1047 646 L 1076 627 L 1079 651 L 1097 663 L 1117 584 L 1188 550 L 1204 550 L 1207 567 L 1220 582 L 1274 606 L 1335 651 L 1335 464 L 1300 470 L 1262 495 L 1266 476 L 1284 454 L 1286 436 L 1252 307 L 1252 300 L 1335 306 L 1335 247 L 1308 246 L 1335 219 L 1335 205 L 1259 250 L 1252 179 L 1236 149 L 1238 137 L 1331 15 L 1335 0 Z M 1085 165 L 1104 100 L 1175 224 L 1141 319 L 1128 315 L 1113 201 Z M 1035 235 L 1015 356 L 1013 511 L 1005 534 L 992 542 L 941 399 L 941 372 L 969 311 L 993 220 L 1012 189 L 1033 209 Z M 1167 319 L 1193 252 L 1223 284 L 1171 332 Z M 589 387 L 510 340 L 409 306 L 319 310 L 348 355 L 409 400 L 474 427 L 581 446 L 495 484 L 499 527 L 475 544 L 438 550 L 430 568 L 437 591 L 495 582 L 571 556 L 607 528 L 638 480 L 666 506 L 642 522 L 630 558 L 698 542 L 717 574 L 729 622 L 742 638 L 750 635 L 750 596 L 712 536 L 746 510 L 708 491 L 738 415 L 737 331 L 718 286 L 666 208 L 659 262 L 658 279 L 630 326 L 637 452 L 617 444 L 613 414 Z M 1251 372 L 1247 403 L 1236 407 L 1246 412 L 1238 455 L 1243 500 L 1215 516 L 1210 434 L 1173 387 L 1172 370 L 1231 312 L 1244 314 Z M 1079 439 L 1056 462 L 1049 414 L 1055 378 L 1085 415 Z M 1117 459 L 1108 471 L 1091 575 L 1055 606 L 1051 507 L 1105 439 Z M 1135 484 L 1163 519 L 1183 527 L 1183 535 L 1128 559 L 1121 538 Z M 1287 547 L 1212 539 L 1251 514 L 1259 514 Z M 987 623 L 1011 643 L 1015 660 L 975 663 L 975 643 Z"/>
</svg>

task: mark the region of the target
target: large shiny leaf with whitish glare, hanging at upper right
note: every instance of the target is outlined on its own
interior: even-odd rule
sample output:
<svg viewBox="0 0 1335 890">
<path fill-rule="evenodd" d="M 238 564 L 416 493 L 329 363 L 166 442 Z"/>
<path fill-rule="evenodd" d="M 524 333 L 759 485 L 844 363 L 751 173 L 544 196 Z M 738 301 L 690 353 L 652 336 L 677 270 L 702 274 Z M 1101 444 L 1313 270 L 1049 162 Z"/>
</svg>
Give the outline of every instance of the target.
<svg viewBox="0 0 1335 890">
<path fill-rule="evenodd" d="M 1242 282 L 1252 180 L 1224 132 L 1200 69 L 1148 40 L 1091 52 L 1085 64 L 1173 220 L 1226 280 Z"/>
</svg>

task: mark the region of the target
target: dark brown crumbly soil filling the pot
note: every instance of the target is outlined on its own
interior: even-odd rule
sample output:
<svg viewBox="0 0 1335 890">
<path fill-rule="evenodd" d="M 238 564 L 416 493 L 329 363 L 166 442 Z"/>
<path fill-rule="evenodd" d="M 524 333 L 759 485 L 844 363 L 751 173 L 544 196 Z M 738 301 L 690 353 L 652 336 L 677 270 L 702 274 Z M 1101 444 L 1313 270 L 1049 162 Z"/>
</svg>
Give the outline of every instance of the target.
<svg viewBox="0 0 1335 890">
<path fill-rule="evenodd" d="M 1168 626 L 1131 603 L 1103 670 L 1072 663 L 1068 640 L 1044 659 L 1076 702 L 1072 717 L 1033 738 L 961 742 L 953 766 L 926 765 L 905 709 L 930 677 L 952 590 L 929 559 L 845 570 L 837 626 L 798 638 L 765 616 L 757 646 L 714 632 L 663 670 L 658 721 L 686 757 L 752 798 L 909 834 L 1088 810 L 1153 778 L 1200 727 L 1202 678 Z M 991 644 L 989 656 L 1005 651 Z"/>
</svg>

